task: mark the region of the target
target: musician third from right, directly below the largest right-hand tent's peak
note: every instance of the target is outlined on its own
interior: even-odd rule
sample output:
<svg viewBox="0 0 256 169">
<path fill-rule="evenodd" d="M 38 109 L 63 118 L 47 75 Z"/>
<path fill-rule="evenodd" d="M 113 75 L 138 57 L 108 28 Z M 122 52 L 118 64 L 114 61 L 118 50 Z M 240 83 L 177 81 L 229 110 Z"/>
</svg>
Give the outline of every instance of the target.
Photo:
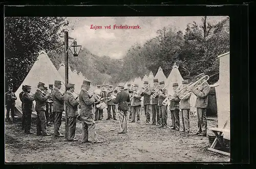
<svg viewBox="0 0 256 169">
<path fill-rule="evenodd" d="M 172 126 L 170 129 L 180 130 L 180 117 L 179 117 L 179 108 L 180 108 L 180 99 L 176 93 L 178 88 L 178 83 L 173 83 L 174 99 L 170 100 L 170 118 L 172 119 Z"/>
</svg>

